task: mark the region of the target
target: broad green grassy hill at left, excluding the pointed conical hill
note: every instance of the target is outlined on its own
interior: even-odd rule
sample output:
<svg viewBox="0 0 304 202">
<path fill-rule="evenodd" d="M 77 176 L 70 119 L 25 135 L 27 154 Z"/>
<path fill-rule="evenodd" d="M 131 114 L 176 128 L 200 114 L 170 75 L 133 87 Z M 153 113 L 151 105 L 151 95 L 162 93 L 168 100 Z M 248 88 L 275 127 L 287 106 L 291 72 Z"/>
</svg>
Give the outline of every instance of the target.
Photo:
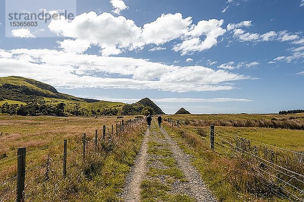
<svg viewBox="0 0 304 202">
<path fill-rule="evenodd" d="M 14 106 L 18 110 L 18 107 L 23 105 L 30 106 L 38 112 L 33 112 L 33 115 L 49 115 L 48 112 L 40 112 L 40 108 L 50 106 L 52 110 L 63 103 L 66 115 L 77 116 L 117 115 L 125 105 L 60 93 L 49 84 L 18 76 L 0 77 L 0 105 L 3 106 L 5 103 L 13 106 L 8 106 L 5 111 L 10 112 L 11 108 L 14 112 Z"/>
</svg>

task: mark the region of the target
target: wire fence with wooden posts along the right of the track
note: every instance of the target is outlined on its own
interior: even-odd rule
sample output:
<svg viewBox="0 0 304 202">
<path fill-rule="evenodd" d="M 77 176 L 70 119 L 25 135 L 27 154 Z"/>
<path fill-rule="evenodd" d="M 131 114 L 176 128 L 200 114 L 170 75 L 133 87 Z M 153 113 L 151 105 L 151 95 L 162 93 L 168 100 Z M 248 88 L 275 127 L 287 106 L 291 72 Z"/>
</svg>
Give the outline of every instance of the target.
<svg viewBox="0 0 304 202">
<path fill-rule="evenodd" d="M 199 136 L 205 142 L 210 143 L 210 147 L 219 155 L 246 161 L 251 169 L 251 174 L 264 180 L 261 186 L 266 189 L 264 193 L 261 193 L 261 197 L 271 192 L 283 200 L 304 201 L 304 153 L 301 151 L 262 143 L 223 130 L 214 131 L 211 127 L 187 125 L 183 120 L 168 118 L 165 121 L 178 127 L 178 130 Z M 213 140 L 215 138 L 214 142 L 212 142 L 211 136 L 213 136 Z M 276 157 L 276 159 L 269 156 Z M 247 184 L 247 186 L 249 185 Z"/>
</svg>

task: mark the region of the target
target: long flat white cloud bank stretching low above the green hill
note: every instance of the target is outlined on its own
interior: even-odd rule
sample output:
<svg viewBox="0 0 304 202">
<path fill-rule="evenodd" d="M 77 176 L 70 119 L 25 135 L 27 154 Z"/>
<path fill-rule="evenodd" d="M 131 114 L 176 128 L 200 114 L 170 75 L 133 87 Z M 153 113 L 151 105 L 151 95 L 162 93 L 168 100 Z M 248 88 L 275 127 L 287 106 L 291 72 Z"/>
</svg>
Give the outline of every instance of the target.
<svg viewBox="0 0 304 202">
<path fill-rule="evenodd" d="M 203 66 L 175 66 L 144 59 L 103 57 L 50 49 L 0 50 L 0 76 L 18 75 L 63 88 L 129 88 L 215 91 L 251 79 Z M 62 79 L 64 78 L 64 79 Z"/>
</svg>

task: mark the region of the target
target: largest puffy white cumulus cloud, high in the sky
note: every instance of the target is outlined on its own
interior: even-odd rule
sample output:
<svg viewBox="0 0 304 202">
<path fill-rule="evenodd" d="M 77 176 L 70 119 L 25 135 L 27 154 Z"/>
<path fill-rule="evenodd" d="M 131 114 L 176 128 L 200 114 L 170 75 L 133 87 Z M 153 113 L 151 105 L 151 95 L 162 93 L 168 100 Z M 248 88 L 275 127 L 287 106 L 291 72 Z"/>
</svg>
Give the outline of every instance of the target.
<svg viewBox="0 0 304 202">
<path fill-rule="evenodd" d="M 97 15 L 95 12 L 83 13 L 74 20 L 52 20 L 49 29 L 59 36 L 80 39 L 82 52 L 88 45 L 97 45 L 103 56 L 117 55 L 123 51 L 142 49 L 144 45 L 161 45 L 173 39 L 179 40 L 173 50 L 181 55 L 200 52 L 217 44 L 217 38 L 224 34 L 223 20 L 201 20 L 192 24 L 192 18 L 183 18 L 180 13 L 163 14 L 155 21 L 138 27 L 133 20 L 123 16 L 115 17 L 109 13 Z M 75 41 L 81 43 L 81 41 Z M 66 51 L 72 41 L 60 43 Z M 67 47 L 65 47 L 65 45 Z M 74 45 L 77 46 L 77 45 Z M 77 47 L 76 47 L 77 48 Z"/>
</svg>

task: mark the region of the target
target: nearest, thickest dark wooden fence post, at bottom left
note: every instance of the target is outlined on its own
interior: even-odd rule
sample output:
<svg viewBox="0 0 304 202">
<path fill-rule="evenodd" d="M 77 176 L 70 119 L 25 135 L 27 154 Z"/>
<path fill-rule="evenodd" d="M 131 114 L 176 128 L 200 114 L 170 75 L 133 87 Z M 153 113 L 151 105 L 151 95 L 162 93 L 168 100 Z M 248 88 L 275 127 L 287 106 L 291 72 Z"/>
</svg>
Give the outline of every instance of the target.
<svg viewBox="0 0 304 202">
<path fill-rule="evenodd" d="M 24 180 L 25 180 L 25 155 L 26 147 L 20 147 L 17 151 L 17 202 L 24 201 Z"/>
</svg>

